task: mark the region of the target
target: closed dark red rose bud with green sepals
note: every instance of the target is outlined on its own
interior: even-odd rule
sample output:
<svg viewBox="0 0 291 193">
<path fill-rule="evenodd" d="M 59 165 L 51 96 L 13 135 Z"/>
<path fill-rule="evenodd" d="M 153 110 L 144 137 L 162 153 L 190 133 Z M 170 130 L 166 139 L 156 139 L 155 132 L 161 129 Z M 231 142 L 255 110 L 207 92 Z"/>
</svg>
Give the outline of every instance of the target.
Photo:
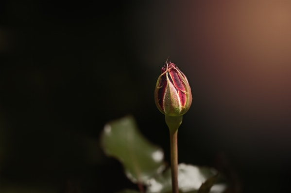
<svg viewBox="0 0 291 193">
<path fill-rule="evenodd" d="M 154 100 L 157 108 L 168 116 L 183 115 L 190 108 L 192 94 L 188 80 L 171 61 L 161 68 L 154 90 Z"/>
</svg>

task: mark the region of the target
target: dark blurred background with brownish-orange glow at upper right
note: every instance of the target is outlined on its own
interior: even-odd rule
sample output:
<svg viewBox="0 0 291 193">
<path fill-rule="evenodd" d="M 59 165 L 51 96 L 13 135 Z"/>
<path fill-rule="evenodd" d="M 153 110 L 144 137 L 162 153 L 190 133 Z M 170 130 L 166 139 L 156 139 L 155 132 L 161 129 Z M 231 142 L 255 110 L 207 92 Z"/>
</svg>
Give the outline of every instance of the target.
<svg viewBox="0 0 291 193">
<path fill-rule="evenodd" d="M 170 162 L 154 104 L 168 56 L 193 95 L 179 162 L 289 192 L 291 0 L 1 0 L 0 192 L 137 189 L 99 137 L 131 114 Z"/>
</svg>

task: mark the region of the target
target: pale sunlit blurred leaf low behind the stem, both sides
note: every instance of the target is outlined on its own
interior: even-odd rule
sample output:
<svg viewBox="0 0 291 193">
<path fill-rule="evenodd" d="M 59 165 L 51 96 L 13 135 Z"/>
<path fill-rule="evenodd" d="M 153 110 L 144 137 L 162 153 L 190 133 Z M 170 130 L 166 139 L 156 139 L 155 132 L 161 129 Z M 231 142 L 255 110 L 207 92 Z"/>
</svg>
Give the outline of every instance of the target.
<svg viewBox="0 0 291 193">
<path fill-rule="evenodd" d="M 180 163 L 178 165 L 179 190 L 183 193 L 197 193 L 206 179 L 216 175 L 216 170 Z M 215 184 L 211 193 L 222 193 L 225 184 Z M 171 168 L 149 180 L 147 193 L 171 193 Z"/>
</svg>

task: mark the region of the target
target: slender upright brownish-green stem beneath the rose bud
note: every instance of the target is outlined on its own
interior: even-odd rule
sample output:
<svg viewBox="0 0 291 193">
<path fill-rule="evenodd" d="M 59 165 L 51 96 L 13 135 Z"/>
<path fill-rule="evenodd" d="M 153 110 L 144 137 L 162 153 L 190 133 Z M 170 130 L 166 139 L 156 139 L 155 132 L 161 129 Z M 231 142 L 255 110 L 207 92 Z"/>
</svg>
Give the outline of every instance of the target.
<svg viewBox="0 0 291 193">
<path fill-rule="evenodd" d="M 178 193 L 178 128 L 182 123 L 183 116 L 171 117 L 166 115 L 166 123 L 170 129 L 171 144 L 171 177 L 172 193 Z"/>
</svg>

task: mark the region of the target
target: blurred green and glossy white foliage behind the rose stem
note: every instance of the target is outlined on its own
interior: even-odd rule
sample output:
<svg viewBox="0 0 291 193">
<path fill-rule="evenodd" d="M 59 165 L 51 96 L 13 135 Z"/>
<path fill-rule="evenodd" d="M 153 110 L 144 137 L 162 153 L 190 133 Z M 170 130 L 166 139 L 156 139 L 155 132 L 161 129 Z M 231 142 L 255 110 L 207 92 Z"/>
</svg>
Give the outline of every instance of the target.
<svg viewBox="0 0 291 193">
<path fill-rule="evenodd" d="M 125 174 L 134 183 L 143 182 L 146 193 L 171 193 L 171 168 L 164 169 L 163 151 L 148 142 L 139 132 L 132 117 L 105 125 L 101 135 L 103 150 L 120 160 Z M 178 182 L 181 193 L 223 193 L 226 188 L 218 172 L 209 167 L 180 163 Z M 216 182 L 216 184 L 214 184 Z M 136 193 L 124 190 L 120 193 Z"/>
</svg>

